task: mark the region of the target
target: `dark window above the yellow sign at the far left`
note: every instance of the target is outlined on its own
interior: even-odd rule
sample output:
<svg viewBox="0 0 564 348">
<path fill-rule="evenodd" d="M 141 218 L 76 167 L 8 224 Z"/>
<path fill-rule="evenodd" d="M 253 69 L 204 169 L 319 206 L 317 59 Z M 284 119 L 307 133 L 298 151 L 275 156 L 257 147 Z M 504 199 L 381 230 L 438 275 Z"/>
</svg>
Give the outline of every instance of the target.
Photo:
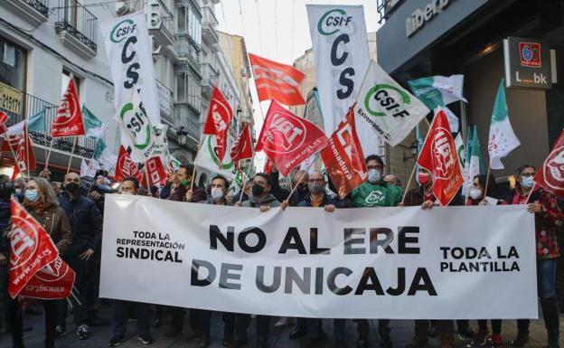
<svg viewBox="0 0 564 348">
<path fill-rule="evenodd" d="M 0 36 L 0 82 L 14 89 L 25 89 L 27 52 Z"/>
</svg>

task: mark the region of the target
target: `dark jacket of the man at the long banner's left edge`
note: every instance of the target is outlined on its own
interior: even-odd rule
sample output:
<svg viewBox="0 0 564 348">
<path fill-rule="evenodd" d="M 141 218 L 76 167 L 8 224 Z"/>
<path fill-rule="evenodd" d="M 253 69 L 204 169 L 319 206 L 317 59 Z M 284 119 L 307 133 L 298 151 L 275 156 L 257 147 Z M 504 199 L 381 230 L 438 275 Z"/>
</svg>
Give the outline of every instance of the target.
<svg viewBox="0 0 564 348">
<path fill-rule="evenodd" d="M 71 200 L 68 193 L 61 193 L 59 204 L 71 222 L 72 243 L 68 256 L 77 256 L 87 249 L 97 254 L 102 246 L 102 216 L 96 203 L 83 195 Z"/>
</svg>

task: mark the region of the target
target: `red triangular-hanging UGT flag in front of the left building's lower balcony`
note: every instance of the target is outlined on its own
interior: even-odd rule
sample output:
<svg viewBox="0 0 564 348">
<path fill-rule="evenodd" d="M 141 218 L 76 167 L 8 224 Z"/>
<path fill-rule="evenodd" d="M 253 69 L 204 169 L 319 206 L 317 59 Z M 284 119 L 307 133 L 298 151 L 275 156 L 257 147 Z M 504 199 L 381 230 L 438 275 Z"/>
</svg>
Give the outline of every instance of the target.
<svg viewBox="0 0 564 348">
<path fill-rule="evenodd" d="M 51 136 L 84 136 L 84 123 L 80 112 L 79 93 L 71 76 L 69 87 L 62 95 L 57 116 L 52 121 Z"/>
</svg>

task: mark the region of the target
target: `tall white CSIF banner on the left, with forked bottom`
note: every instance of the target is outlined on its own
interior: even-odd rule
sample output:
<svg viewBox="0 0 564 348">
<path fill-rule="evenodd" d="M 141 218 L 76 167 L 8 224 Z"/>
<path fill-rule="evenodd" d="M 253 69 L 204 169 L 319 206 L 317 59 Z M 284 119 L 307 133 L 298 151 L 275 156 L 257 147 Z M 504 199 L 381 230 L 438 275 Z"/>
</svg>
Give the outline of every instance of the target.
<svg viewBox="0 0 564 348">
<path fill-rule="evenodd" d="M 127 90 L 136 86 L 153 125 L 161 123 L 155 84 L 155 66 L 146 16 L 127 14 L 100 24 L 114 80 L 115 107 L 123 105 Z"/>
</svg>

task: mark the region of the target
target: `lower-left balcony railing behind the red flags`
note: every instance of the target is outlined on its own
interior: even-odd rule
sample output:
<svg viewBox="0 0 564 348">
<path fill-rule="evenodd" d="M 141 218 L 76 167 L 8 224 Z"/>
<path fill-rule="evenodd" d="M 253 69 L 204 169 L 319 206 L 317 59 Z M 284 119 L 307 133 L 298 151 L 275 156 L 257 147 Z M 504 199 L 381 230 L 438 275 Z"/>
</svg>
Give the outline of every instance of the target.
<svg viewBox="0 0 564 348">
<path fill-rule="evenodd" d="M 33 139 L 33 144 L 35 145 L 42 145 L 42 146 L 50 146 L 51 145 L 51 125 L 52 120 L 57 115 L 57 108 L 58 106 L 52 104 L 48 101 L 43 99 L 39 99 L 37 97 L 32 96 L 31 94 L 27 94 L 22 92 L 24 99 L 23 105 L 24 108 L 19 113 L 14 113 L 7 109 L 3 109 L 0 106 L 0 110 L 5 112 L 6 115 L 9 116 L 8 121 L 6 122 L 7 126 L 10 127 L 18 122 L 24 120 L 24 118 L 30 118 L 33 115 L 37 114 L 38 112 L 45 110 L 45 125 L 44 130 L 40 132 L 30 132 L 30 136 Z M 71 152 L 72 150 L 72 142 L 74 141 L 71 137 L 58 137 L 53 140 L 52 146 L 53 148 L 59 149 L 65 152 Z M 96 140 L 90 139 L 85 136 L 79 136 L 77 145 L 74 149 L 75 155 L 81 155 L 83 157 L 91 158 L 94 155 L 94 148 L 96 147 Z"/>
</svg>

